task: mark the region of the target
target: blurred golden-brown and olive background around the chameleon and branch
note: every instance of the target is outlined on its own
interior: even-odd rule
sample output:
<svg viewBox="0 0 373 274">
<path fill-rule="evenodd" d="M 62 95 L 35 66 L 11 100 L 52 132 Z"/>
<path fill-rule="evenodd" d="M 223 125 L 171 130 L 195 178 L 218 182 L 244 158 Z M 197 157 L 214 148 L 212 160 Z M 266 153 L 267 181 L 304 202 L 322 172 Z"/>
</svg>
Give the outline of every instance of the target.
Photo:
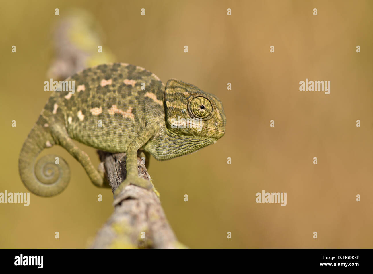
<svg viewBox="0 0 373 274">
<path fill-rule="evenodd" d="M 82 45 L 79 66 L 130 63 L 223 102 L 226 134 L 216 144 L 166 162 L 150 160 L 148 171 L 182 243 L 373 247 L 372 1 L 25 0 L 1 6 L 0 192 L 28 192 L 18 175 L 19 152 L 50 96 L 43 82 L 63 70 L 56 26 L 78 9 L 75 38 L 61 35 L 60 43 Z M 331 81 L 330 94 L 300 92 L 306 78 Z M 98 166 L 95 150 L 79 147 Z M 0 248 L 87 247 L 112 214 L 111 189 L 94 187 L 61 147 L 42 155 L 50 153 L 69 163 L 68 188 L 52 198 L 30 194 L 29 206 L 0 204 Z M 287 192 L 287 205 L 257 204 L 262 190 Z"/>
</svg>

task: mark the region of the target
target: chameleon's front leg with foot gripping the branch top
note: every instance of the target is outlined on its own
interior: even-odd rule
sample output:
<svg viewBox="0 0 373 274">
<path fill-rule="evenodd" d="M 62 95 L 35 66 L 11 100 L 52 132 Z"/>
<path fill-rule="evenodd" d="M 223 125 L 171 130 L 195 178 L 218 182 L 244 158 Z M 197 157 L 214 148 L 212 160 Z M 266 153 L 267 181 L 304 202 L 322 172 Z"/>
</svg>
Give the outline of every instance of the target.
<svg viewBox="0 0 373 274">
<path fill-rule="evenodd" d="M 128 145 L 126 150 L 126 179 L 115 190 L 114 198 L 117 198 L 122 189 L 129 184 L 137 185 L 146 189 L 154 188 L 151 182 L 138 176 L 137 150 L 144 146 L 144 144 L 146 144 L 155 133 L 156 129 L 154 126 L 148 124 L 145 129 Z"/>
</svg>

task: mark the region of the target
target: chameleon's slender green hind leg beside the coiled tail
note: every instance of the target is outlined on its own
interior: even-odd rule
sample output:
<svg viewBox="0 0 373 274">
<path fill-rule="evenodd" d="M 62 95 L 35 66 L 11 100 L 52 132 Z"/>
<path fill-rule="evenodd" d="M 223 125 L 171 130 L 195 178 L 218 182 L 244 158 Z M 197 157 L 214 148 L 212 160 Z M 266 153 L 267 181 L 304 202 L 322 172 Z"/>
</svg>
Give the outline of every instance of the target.
<svg viewBox="0 0 373 274">
<path fill-rule="evenodd" d="M 83 150 L 79 149 L 71 140 L 66 129 L 60 126 L 51 128 L 54 138 L 57 139 L 57 144 L 66 149 L 71 156 L 73 156 L 85 169 L 89 178 L 93 184 L 97 187 L 109 187 L 109 185 L 104 184 L 104 177 L 100 174 L 97 169 L 94 168 L 90 157 Z"/>
</svg>

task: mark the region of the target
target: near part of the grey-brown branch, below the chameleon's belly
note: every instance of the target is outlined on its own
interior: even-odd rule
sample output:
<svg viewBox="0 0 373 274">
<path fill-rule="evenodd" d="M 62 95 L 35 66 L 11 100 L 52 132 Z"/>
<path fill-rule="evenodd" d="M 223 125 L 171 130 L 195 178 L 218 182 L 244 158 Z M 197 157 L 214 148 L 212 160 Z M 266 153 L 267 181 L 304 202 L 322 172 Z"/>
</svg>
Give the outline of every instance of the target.
<svg viewBox="0 0 373 274">
<path fill-rule="evenodd" d="M 98 151 L 101 169 L 107 174 L 112 191 L 126 178 L 125 153 Z M 102 163 L 103 162 L 103 163 Z M 150 179 L 145 165 L 138 157 L 139 175 Z M 152 190 L 128 185 L 115 205 L 114 213 L 98 232 L 92 248 L 182 248 L 176 239 L 160 204 Z"/>
</svg>

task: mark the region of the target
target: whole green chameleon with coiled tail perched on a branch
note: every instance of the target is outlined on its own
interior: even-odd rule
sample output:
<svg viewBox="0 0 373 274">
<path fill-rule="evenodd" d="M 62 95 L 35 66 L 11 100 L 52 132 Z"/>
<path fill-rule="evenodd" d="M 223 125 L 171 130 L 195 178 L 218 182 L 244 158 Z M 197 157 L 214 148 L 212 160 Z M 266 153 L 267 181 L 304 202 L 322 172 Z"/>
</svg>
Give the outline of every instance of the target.
<svg viewBox="0 0 373 274">
<path fill-rule="evenodd" d="M 108 187 L 103 172 L 72 140 L 107 152 L 126 152 L 127 175 L 116 197 L 128 184 L 153 188 L 138 176 L 139 149 L 157 160 L 168 160 L 213 144 L 225 133 L 223 105 L 216 96 L 176 79 L 164 85 L 142 67 L 102 64 L 66 81 L 75 81 L 75 92 L 53 91 L 19 156 L 22 182 L 37 195 L 59 194 L 69 183 L 69 166 L 62 158 L 56 164 L 57 156 L 46 155 L 35 165 L 38 154 L 54 145 L 75 157 L 98 187 Z M 198 118 L 201 128 L 183 128 L 185 123 L 173 128 L 178 117 Z"/>
</svg>

